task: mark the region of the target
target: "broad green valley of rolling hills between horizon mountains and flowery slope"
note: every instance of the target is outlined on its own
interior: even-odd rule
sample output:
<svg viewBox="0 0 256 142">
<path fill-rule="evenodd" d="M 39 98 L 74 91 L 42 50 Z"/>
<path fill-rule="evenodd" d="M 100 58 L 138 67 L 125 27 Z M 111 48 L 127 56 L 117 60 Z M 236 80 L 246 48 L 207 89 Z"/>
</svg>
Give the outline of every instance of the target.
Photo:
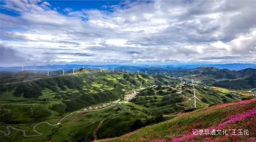
<svg viewBox="0 0 256 142">
<path fill-rule="evenodd" d="M 180 78 L 161 74 L 90 69 L 32 79 L 27 74 L 20 82 L 13 77 L 1 84 L 1 141 L 112 138 L 208 106 L 239 102 L 254 91 L 214 87 L 200 80 L 191 84 L 191 77 L 182 77 L 180 88 Z"/>
</svg>

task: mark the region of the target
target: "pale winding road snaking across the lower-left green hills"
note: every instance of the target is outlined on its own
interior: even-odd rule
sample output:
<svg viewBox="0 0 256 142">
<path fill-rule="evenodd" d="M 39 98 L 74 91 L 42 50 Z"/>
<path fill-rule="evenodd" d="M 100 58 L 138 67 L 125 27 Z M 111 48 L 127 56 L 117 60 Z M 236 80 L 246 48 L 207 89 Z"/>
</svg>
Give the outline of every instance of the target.
<svg viewBox="0 0 256 142">
<path fill-rule="evenodd" d="M 111 105 L 111 106 L 115 106 L 115 104 L 114 104 L 114 105 Z M 108 107 L 106 107 L 106 108 L 110 108 L 111 106 L 108 106 Z M 30 136 L 27 136 L 25 130 L 18 129 L 18 128 L 14 128 L 13 126 L 7 126 L 7 127 L 6 127 L 7 133 L 4 132 L 4 131 L 2 131 L 2 130 L 0 130 L 0 133 L 4 134 L 4 136 L 8 136 L 8 135 L 11 134 L 11 131 L 10 131 L 10 128 L 11 128 L 11 129 L 13 129 L 13 130 L 21 131 L 21 132 L 23 133 L 23 136 L 24 136 L 24 137 L 41 136 L 41 135 L 43 135 L 43 133 L 40 133 L 40 132 L 38 132 L 38 131 L 36 130 L 36 127 L 37 127 L 38 125 L 40 125 L 40 124 L 45 123 L 45 124 L 48 124 L 48 125 L 50 125 L 50 126 L 57 126 L 57 125 L 61 124 L 62 120 L 64 120 L 65 118 L 67 118 L 68 116 L 70 116 L 70 115 L 72 115 L 72 114 L 74 114 L 74 113 L 79 113 L 79 112 L 96 112 L 96 111 L 100 111 L 100 110 L 103 110 L 103 109 L 106 109 L 106 108 L 101 108 L 101 109 L 98 109 L 98 110 L 88 110 L 88 111 L 76 111 L 76 112 L 72 112 L 72 113 L 66 115 L 65 117 L 63 117 L 57 124 L 50 124 L 49 122 L 40 122 L 40 123 L 36 124 L 36 125 L 33 127 L 33 131 L 34 131 L 37 135 L 30 135 Z M 101 124 L 100 124 L 100 125 L 101 125 Z"/>
</svg>

